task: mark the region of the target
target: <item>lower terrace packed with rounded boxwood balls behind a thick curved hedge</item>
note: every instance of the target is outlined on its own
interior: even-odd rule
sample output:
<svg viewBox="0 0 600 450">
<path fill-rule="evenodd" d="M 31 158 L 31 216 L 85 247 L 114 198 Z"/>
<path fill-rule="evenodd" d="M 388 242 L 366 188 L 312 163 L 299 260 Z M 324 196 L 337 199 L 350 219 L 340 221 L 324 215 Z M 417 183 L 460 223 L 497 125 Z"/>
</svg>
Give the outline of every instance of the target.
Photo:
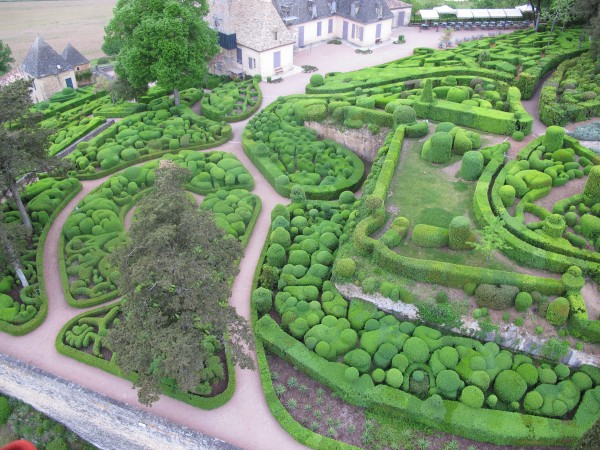
<svg viewBox="0 0 600 450">
<path fill-rule="evenodd" d="M 264 346 L 350 403 L 385 407 L 486 442 L 567 444 L 597 419 L 594 393 L 584 394 L 579 403 L 581 391 L 573 396 L 565 389 L 579 391 L 569 377 L 593 388 L 598 369 L 586 366 L 571 375 L 565 365 L 551 366 L 494 343 L 401 322 L 368 303 L 345 300 L 327 275 L 315 277 L 321 253 L 337 248 L 333 238 L 348 239 L 344 216 L 352 221 L 356 214 L 350 197 L 340 198 L 339 206 L 328 205 L 331 212 L 325 216 L 327 204 L 311 201 L 273 211 L 272 233 L 252 294 L 253 318 L 260 318 L 255 331 Z M 331 214 L 333 224 L 323 220 Z M 321 261 L 329 264 L 330 258 Z M 334 270 L 348 270 L 342 261 Z M 259 362 L 266 369 L 263 351 L 259 348 Z M 265 381 L 268 372 L 262 373 Z M 272 381 L 265 386 L 272 389 Z M 272 411 L 281 415 L 276 395 L 267 398 Z M 566 415 L 572 419 L 558 420 Z M 523 417 L 530 427 L 523 425 Z M 301 442 L 324 439 L 285 423 Z"/>
</svg>

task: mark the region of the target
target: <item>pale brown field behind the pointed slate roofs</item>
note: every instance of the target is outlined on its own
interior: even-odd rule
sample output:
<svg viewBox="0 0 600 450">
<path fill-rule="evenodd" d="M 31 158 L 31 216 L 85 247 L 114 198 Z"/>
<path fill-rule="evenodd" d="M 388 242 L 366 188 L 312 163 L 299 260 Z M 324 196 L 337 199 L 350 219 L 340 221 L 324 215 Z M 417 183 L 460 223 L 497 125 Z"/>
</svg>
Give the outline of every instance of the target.
<svg viewBox="0 0 600 450">
<path fill-rule="evenodd" d="M 0 1 L 0 40 L 23 62 L 37 33 L 57 52 L 70 42 L 88 59 L 102 56 L 104 27 L 117 0 Z"/>
</svg>

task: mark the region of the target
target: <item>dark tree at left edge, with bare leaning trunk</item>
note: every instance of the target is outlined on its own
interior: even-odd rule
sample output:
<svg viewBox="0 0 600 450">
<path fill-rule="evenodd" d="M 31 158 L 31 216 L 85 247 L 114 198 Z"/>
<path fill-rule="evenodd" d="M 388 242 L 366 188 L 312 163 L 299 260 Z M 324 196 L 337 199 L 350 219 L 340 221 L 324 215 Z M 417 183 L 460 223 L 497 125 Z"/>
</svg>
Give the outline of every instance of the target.
<svg viewBox="0 0 600 450">
<path fill-rule="evenodd" d="M 41 128 L 42 115 L 29 111 L 29 89 L 25 80 L 0 87 L 0 190 L 10 191 L 23 225 L 33 233 L 17 181 L 26 173 L 45 172 L 60 162 L 46 152 L 52 130 Z"/>
</svg>

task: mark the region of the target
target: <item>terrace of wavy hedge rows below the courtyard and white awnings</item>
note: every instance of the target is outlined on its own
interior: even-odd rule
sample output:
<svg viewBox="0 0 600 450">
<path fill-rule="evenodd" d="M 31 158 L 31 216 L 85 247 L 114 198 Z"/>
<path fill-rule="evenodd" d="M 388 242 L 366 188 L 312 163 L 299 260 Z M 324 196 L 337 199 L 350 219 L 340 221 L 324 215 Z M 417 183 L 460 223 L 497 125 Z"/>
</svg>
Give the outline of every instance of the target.
<svg viewBox="0 0 600 450">
<path fill-rule="evenodd" d="M 413 56 L 388 64 L 329 74 L 322 85 L 311 84 L 306 92 L 338 94 L 430 77 L 469 75 L 514 83 L 528 99 L 544 74 L 565 59 L 587 51 L 586 45 L 578 48 L 579 34 L 577 29 L 557 33 L 548 45 L 546 32 L 516 31 L 464 42 L 455 49 L 416 49 Z"/>
</svg>

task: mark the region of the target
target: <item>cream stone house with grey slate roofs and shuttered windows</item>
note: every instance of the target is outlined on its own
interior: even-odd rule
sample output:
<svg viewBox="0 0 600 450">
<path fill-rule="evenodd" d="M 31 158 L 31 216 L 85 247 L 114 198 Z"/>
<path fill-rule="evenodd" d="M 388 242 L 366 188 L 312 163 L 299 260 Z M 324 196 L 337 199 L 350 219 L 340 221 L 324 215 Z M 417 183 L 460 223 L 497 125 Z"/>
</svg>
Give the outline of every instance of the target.
<svg viewBox="0 0 600 450">
<path fill-rule="evenodd" d="M 294 49 L 334 38 L 368 47 L 389 40 L 398 23 L 388 0 L 210 0 L 209 6 L 207 20 L 223 48 L 212 67 L 217 73 L 279 75 L 292 69 Z"/>
</svg>

